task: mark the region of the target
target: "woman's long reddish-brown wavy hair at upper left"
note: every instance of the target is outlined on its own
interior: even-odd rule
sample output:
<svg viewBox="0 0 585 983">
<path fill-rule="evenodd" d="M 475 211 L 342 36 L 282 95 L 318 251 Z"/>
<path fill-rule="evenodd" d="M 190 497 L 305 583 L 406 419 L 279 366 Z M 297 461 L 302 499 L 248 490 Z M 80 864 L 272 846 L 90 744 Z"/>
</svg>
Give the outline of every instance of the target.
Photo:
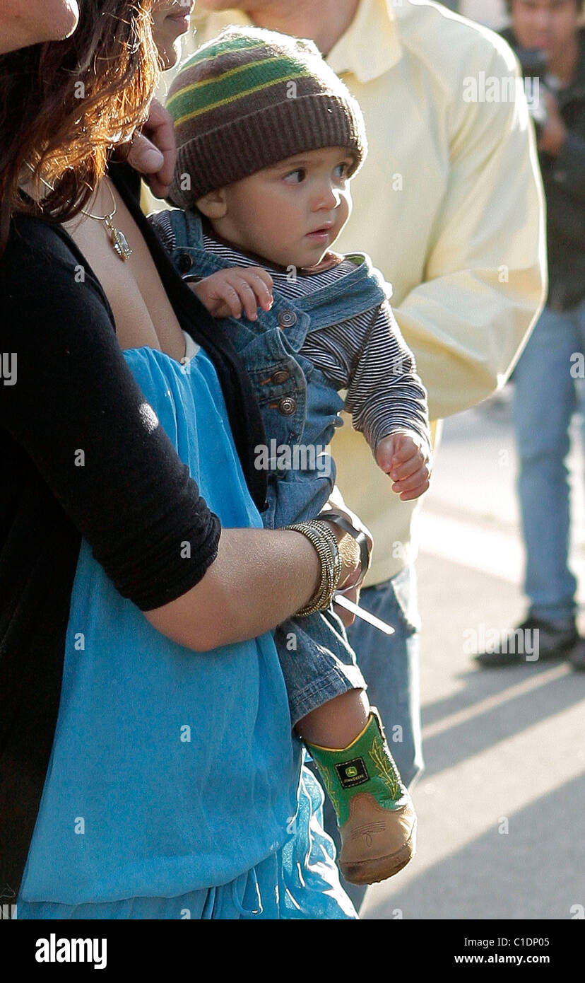
<svg viewBox="0 0 585 983">
<path fill-rule="evenodd" d="M 103 176 L 108 149 L 145 119 L 158 79 L 152 0 L 80 0 L 61 41 L 0 56 L 0 252 L 15 210 L 65 222 Z M 32 167 L 32 172 L 28 166 Z M 54 189 L 34 202 L 19 183 Z"/>
</svg>

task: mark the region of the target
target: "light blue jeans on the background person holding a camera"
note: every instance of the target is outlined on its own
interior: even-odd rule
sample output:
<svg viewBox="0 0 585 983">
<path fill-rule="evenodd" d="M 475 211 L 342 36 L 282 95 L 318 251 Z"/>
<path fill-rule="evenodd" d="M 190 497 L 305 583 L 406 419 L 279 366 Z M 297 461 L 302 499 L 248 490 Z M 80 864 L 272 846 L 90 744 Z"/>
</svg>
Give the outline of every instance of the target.
<svg viewBox="0 0 585 983">
<path fill-rule="evenodd" d="M 518 495 L 526 548 L 524 592 L 530 613 L 573 617 L 576 580 L 568 568 L 569 425 L 583 406 L 585 301 L 570 311 L 545 308 L 514 370 L 513 421 Z M 572 356 L 572 358 L 571 358 Z"/>
</svg>

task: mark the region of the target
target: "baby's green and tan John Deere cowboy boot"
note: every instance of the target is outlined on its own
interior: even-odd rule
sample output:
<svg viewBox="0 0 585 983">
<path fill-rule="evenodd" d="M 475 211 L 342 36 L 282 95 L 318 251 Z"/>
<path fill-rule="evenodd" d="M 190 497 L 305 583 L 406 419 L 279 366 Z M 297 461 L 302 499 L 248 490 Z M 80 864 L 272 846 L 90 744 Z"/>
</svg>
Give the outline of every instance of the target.
<svg viewBox="0 0 585 983">
<path fill-rule="evenodd" d="M 378 711 L 343 750 L 306 744 L 338 818 L 339 865 L 350 884 L 398 874 L 414 855 L 416 815 Z M 306 742 L 305 742 L 306 743 Z"/>
</svg>

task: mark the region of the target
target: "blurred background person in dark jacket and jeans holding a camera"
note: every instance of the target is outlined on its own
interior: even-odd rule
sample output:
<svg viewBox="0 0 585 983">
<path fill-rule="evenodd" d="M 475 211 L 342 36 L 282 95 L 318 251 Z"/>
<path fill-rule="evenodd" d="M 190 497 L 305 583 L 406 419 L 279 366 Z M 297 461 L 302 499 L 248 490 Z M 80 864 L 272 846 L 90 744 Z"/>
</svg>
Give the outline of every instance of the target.
<svg viewBox="0 0 585 983">
<path fill-rule="evenodd" d="M 585 641 L 575 614 L 577 588 L 568 566 L 569 427 L 581 408 L 585 426 L 585 29 L 581 0 L 512 0 L 503 33 L 514 48 L 546 56 L 537 129 L 547 200 L 547 305 L 514 369 L 513 424 L 519 460 L 517 491 L 526 549 L 527 617 L 495 651 L 476 659 L 486 667 L 525 663 L 518 631 L 538 632 L 539 661 L 565 659 L 585 669 Z M 547 398 L 542 398 L 546 387 Z M 521 649 L 522 651 L 519 651 Z"/>
</svg>

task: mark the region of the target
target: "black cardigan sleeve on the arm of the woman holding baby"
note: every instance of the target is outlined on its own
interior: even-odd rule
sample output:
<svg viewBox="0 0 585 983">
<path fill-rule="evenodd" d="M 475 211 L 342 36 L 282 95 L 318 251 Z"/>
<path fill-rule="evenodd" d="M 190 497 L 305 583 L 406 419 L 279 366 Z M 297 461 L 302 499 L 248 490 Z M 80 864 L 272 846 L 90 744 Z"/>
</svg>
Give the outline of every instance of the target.
<svg viewBox="0 0 585 983">
<path fill-rule="evenodd" d="M 81 267 L 63 234 L 15 220 L 0 261 L 0 426 L 118 591 L 149 610 L 201 579 L 220 521 L 160 425 L 152 428 L 108 302 Z"/>
</svg>

